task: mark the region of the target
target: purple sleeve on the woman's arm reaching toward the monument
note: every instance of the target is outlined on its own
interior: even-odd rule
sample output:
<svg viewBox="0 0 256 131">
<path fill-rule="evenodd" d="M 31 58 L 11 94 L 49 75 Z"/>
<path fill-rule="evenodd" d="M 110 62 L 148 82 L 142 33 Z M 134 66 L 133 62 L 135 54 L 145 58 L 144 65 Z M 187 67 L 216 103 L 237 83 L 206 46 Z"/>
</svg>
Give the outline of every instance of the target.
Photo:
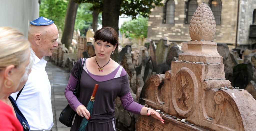
<svg viewBox="0 0 256 131">
<path fill-rule="evenodd" d="M 131 92 L 128 92 L 127 94 L 120 97 L 120 100 L 122 102 L 122 105 L 124 108 L 134 114 L 141 114 L 141 109 L 143 105 L 135 102 L 132 98 Z"/>
</svg>

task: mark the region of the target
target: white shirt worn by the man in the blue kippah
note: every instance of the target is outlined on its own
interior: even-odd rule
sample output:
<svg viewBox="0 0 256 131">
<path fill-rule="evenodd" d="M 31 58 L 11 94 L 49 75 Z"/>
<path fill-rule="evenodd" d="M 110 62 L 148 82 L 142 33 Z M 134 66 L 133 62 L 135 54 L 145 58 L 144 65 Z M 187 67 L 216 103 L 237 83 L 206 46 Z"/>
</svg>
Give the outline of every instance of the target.
<svg viewBox="0 0 256 131">
<path fill-rule="evenodd" d="M 51 85 L 45 71 L 46 63 L 35 56 L 28 81 L 16 101 L 31 130 L 48 130 L 53 126 Z M 17 93 L 12 96 L 15 100 Z"/>
</svg>

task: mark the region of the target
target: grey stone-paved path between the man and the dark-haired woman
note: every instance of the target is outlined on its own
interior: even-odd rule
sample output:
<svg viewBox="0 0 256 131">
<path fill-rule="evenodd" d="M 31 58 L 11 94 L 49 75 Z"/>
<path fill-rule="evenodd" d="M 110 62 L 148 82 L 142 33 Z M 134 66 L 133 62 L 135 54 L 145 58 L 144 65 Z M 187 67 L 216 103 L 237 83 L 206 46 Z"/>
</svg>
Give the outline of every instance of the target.
<svg viewBox="0 0 256 131">
<path fill-rule="evenodd" d="M 59 117 L 61 111 L 68 104 L 64 91 L 68 83 L 70 72 L 66 72 L 62 68 L 52 64 L 47 57 L 45 60 L 48 61 L 45 70 L 51 84 L 51 103 L 54 123 L 52 131 L 69 131 L 70 127 L 60 123 Z"/>
</svg>

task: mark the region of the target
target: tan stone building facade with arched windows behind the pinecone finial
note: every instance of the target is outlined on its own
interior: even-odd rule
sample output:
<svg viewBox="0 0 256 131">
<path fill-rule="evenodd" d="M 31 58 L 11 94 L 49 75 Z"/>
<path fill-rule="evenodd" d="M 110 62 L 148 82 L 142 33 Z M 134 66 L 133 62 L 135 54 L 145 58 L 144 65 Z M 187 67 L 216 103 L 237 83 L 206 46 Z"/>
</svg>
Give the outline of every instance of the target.
<svg viewBox="0 0 256 131">
<path fill-rule="evenodd" d="M 148 19 L 147 38 L 158 41 L 161 38 L 173 42 L 191 40 L 189 24 L 197 7 L 203 0 L 164 0 L 164 6 L 152 9 Z M 214 41 L 229 45 L 256 43 L 249 38 L 250 26 L 256 24 L 255 0 L 204 0 L 216 20 Z M 256 29 L 255 29 L 256 31 Z"/>
</svg>

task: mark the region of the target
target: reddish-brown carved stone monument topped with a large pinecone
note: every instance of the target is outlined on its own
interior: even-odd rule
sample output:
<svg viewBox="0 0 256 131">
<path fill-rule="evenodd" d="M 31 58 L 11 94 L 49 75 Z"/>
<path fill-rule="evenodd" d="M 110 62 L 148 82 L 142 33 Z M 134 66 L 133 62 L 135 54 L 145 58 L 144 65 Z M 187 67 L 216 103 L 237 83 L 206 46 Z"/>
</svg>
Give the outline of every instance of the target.
<svg viewBox="0 0 256 131">
<path fill-rule="evenodd" d="M 139 103 L 161 110 L 165 124 L 139 116 L 137 131 L 256 130 L 256 100 L 225 79 L 223 58 L 212 41 L 215 28 L 203 2 L 190 21 L 187 51 L 172 61 L 170 71 L 150 77 L 141 91 Z"/>
</svg>

